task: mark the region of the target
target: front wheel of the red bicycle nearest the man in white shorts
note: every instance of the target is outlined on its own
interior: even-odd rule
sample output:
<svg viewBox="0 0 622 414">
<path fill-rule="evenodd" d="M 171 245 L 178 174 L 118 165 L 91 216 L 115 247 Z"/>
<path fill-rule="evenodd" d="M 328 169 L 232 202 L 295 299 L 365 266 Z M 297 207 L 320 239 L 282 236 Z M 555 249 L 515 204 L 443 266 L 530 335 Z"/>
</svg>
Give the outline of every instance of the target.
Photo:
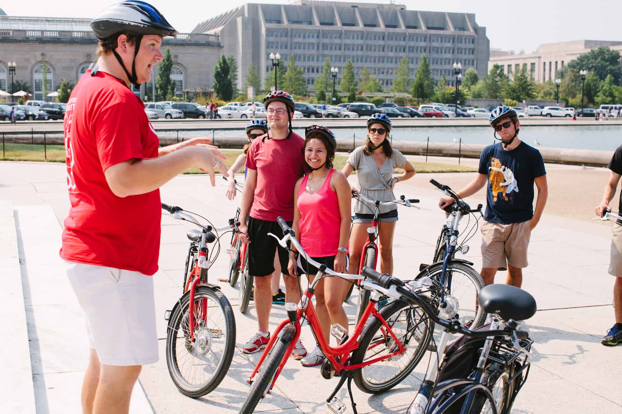
<svg viewBox="0 0 622 414">
<path fill-rule="evenodd" d="M 235 317 L 231 304 L 220 290 L 197 286 L 192 341 L 189 305 L 190 292 L 187 292 L 170 316 L 166 364 L 177 389 L 188 397 L 198 398 L 218 387 L 229 370 L 235 347 Z"/>
</svg>

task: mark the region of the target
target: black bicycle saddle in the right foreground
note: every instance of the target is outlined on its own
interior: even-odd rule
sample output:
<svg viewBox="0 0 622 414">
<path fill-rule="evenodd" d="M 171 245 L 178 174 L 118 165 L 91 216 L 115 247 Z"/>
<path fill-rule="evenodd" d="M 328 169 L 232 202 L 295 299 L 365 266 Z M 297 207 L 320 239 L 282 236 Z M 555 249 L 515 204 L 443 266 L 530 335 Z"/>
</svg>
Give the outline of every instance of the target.
<svg viewBox="0 0 622 414">
<path fill-rule="evenodd" d="M 536 300 L 524 290 L 511 285 L 488 285 L 480 291 L 480 306 L 503 320 L 524 321 L 536 313 Z"/>
</svg>

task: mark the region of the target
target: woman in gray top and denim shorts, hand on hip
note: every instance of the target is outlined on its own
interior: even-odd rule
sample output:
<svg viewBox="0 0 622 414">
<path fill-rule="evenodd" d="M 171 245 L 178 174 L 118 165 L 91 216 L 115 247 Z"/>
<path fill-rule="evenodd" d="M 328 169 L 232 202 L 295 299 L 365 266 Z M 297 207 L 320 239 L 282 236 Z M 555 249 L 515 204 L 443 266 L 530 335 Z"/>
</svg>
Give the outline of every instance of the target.
<svg viewBox="0 0 622 414">
<path fill-rule="evenodd" d="M 363 193 L 371 200 L 395 200 L 393 187 L 415 175 L 415 168 L 398 150 L 389 143 L 391 119 L 385 114 L 373 114 L 367 119 L 368 135 L 365 145 L 356 148 L 343 167 L 348 177 L 356 171 L 358 186 L 352 191 Z M 404 174 L 393 176 L 395 168 L 402 168 Z M 357 200 L 354 208 L 352 231 L 350 232 L 350 267 L 348 273 L 355 274 L 361 261 L 361 250 L 367 241 L 367 228 L 373 218 L 375 206 Z M 393 274 L 393 233 L 397 222 L 397 206 L 380 206 L 378 218 L 378 239 L 380 249 L 380 271 Z M 350 288 L 350 285 L 348 285 Z"/>
</svg>

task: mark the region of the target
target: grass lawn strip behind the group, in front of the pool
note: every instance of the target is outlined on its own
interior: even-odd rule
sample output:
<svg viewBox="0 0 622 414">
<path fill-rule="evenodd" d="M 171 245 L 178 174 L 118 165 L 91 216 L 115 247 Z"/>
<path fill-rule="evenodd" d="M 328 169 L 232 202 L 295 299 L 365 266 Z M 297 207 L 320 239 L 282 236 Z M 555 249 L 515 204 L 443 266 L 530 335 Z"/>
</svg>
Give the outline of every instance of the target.
<svg viewBox="0 0 622 414">
<path fill-rule="evenodd" d="M 223 153 L 227 159 L 225 163 L 227 167 L 231 165 L 238 158 L 239 154 L 242 154 L 242 150 L 230 150 L 223 149 Z M 2 161 L 44 161 L 44 146 L 32 145 L 32 144 L 14 144 L 7 143 L 4 145 L 4 157 L 0 157 Z M 334 167 L 338 170 L 343 168 L 348 157 L 344 155 L 337 155 L 335 157 Z M 47 145 L 47 161 L 48 162 L 65 162 L 65 146 L 64 145 Z M 465 167 L 464 165 L 443 164 L 434 162 L 411 162 L 415 170 L 420 173 L 442 173 L 442 172 L 474 172 L 476 168 Z M 244 172 L 244 167 L 240 168 L 239 173 Z M 396 169 L 397 173 L 403 172 L 399 168 Z M 195 167 L 188 168 L 184 172 L 185 174 L 202 174 L 202 172 Z M 356 172 L 355 172 L 356 173 Z"/>
</svg>

